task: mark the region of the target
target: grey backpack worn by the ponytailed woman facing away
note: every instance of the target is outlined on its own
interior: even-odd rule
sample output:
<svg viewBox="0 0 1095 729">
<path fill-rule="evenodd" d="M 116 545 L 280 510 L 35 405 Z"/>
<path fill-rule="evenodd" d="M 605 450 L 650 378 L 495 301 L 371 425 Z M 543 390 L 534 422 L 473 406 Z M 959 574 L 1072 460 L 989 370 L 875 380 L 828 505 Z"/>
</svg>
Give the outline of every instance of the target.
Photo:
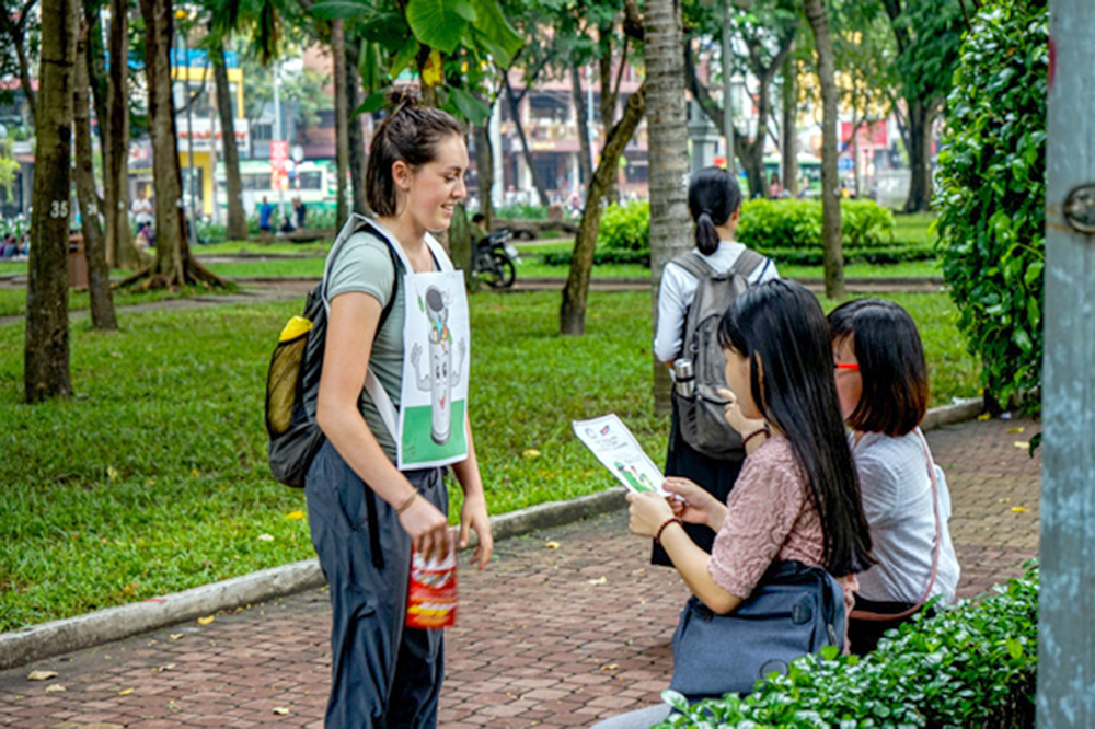
<svg viewBox="0 0 1095 729">
<path fill-rule="evenodd" d="M 726 358 L 718 346 L 718 324 L 734 300 L 749 288 L 749 276 L 768 258 L 746 248 L 730 269 L 719 274 L 691 251 L 672 259 L 700 282 L 684 317 L 681 357 L 692 360 L 695 390 L 684 397 L 673 390 L 681 436 L 704 455 L 729 460 L 744 456 L 741 436 L 726 424 L 726 401 L 718 389 L 726 386 Z"/>
</svg>

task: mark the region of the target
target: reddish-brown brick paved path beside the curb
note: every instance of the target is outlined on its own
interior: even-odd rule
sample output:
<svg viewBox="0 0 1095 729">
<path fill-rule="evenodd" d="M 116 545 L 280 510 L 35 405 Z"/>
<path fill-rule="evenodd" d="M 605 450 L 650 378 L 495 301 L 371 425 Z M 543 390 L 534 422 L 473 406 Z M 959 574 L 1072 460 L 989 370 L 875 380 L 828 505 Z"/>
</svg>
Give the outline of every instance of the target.
<svg viewBox="0 0 1095 729">
<path fill-rule="evenodd" d="M 1040 459 L 1015 447 L 1037 430 L 994 420 L 929 433 L 964 595 L 1037 553 Z M 656 703 L 685 590 L 646 555 L 618 512 L 503 542 L 488 571 L 462 572 L 441 727 L 580 727 Z M 321 590 L 0 672 L 0 727 L 322 727 L 328 621 Z M 58 676 L 28 682 L 32 669 Z"/>
</svg>

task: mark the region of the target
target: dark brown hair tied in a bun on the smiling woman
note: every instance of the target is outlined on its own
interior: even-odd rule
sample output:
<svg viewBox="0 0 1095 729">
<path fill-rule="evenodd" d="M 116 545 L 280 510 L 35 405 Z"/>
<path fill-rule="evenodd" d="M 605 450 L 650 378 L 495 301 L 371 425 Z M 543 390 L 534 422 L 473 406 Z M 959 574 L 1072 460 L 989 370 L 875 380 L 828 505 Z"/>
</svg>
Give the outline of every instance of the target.
<svg viewBox="0 0 1095 729">
<path fill-rule="evenodd" d="M 392 92 L 389 102 L 395 111 L 380 123 L 369 148 L 365 172 L 365 197 L 378 216 L 396 215 L 395 180 L 392 165 L 406 162 L 412 169 L 437 159 L 438 142 L 451 135 L 463 137 L 460 123 L 448 112 L 419 106 L 414 94 Z"/>
</svg>

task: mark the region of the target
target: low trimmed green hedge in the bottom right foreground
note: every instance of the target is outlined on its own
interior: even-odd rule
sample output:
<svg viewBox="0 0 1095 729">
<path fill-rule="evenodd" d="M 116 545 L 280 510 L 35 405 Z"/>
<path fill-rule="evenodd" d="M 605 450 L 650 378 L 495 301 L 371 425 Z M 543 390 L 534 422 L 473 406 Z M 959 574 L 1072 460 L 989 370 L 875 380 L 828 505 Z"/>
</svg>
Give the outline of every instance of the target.
<svg viewBox="0 0 1095 729">
<path fill-rule="evenodd" d="M 1038 570 L 998 586 L 978 603 L 906 624 L 863 659 L 807 656 L 741 698 L 689 707 L 666 727 L 1034 727 Z"/>
</svg>

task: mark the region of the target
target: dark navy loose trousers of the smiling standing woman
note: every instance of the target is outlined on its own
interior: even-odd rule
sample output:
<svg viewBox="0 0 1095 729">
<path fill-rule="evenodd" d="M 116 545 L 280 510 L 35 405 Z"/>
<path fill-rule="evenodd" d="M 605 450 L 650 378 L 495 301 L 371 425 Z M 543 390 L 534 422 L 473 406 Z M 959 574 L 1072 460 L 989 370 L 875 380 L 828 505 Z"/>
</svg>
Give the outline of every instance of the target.
<svg viewBox="0 0 1095 729">
<path fill-rule="evenodd" d="M 405 475 L 448 513 L 440 468 Z M 325 726 L 435 729 L 445 674 L 442 632 L 404 627 L 411 536 L 395 509 L 368 488 L 330 442 L 306 479 L 312 545 L 331 588 L 333 675 Z"/>
</svg>

